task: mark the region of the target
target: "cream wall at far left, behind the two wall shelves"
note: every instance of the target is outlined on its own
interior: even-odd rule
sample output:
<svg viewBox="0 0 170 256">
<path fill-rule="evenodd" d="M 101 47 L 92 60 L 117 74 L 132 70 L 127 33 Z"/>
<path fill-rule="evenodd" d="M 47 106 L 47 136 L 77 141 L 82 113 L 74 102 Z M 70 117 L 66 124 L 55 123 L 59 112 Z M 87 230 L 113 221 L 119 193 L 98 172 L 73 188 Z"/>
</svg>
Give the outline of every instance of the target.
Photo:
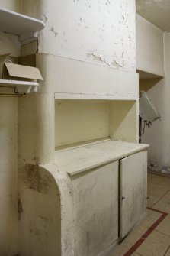
<svg viewBox="0 0 170 256">
<path fill-rule="evenodd" d="M 19 11 L 19 3 L 20 1 L 1 0 L 0 6 Z M 18 37 L 0 33 L 0 54 L 5 53 L 18 57 L 20 54 Z M 0 131 L 0 254 L 13 256 L 18 253 L 17 98 L 0 98 Z"/>
</svg>

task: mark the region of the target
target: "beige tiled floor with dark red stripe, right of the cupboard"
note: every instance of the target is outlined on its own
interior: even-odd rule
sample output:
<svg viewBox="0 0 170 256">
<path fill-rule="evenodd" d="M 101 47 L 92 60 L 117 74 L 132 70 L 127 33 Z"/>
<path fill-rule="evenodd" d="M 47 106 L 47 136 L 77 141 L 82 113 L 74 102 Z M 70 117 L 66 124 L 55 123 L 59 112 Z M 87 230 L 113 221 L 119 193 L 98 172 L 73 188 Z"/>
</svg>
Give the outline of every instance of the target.
<svg viewBox="0 0 170 256">
<path fill-rule="evenodd" d="M 110 256 L 170 256 L 170 177 L 148 173 L 147 203 L 146 219 Z"/>
</svg>

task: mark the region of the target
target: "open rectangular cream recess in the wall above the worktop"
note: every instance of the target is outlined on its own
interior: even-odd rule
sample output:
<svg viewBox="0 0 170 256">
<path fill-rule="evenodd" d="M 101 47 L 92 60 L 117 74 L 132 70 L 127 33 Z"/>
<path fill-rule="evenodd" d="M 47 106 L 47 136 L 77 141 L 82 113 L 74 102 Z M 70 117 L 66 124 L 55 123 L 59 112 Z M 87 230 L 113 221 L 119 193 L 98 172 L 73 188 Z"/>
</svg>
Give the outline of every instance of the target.
<svg viewBox="0 0 170 256">
<path fill-rule="evenodd" d="M 136 142 L 135 100 L 55 100 L 56 151 L 111 139 Z"/>
</svg>

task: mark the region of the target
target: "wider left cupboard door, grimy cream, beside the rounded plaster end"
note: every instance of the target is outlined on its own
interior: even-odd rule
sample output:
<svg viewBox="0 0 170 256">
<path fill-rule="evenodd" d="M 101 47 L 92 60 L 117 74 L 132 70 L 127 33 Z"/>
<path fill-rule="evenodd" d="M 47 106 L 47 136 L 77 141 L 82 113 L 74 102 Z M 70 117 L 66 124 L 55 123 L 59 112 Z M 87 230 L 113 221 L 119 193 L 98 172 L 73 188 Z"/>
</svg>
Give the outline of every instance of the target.
<svg viewBox="0 0 170 256">
<path fill-rule="evenodd" d="M 94 256 L 118 239 L 118 161 L 72 177 L 75 256 Z"/>
</svg>

